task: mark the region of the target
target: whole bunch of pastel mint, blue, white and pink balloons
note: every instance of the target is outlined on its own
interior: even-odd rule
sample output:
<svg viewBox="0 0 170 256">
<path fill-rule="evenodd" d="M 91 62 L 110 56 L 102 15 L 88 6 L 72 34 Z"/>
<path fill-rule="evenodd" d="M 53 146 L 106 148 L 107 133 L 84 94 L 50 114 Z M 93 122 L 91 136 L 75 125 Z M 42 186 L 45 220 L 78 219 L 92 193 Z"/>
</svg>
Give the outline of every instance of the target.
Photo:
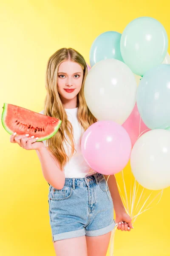
<svg viewBox="0 0 170 256">
<path fill-rule="evenodd" d="M 141 186 L 170 186 L 170 55 L 164 26 L 138 17 L 122 34 L 107 31 L 91 45 L 85 100 L 98 120 L 83 134 L 91 169 L 121 172 L 130 160 Z"/>
</svg>

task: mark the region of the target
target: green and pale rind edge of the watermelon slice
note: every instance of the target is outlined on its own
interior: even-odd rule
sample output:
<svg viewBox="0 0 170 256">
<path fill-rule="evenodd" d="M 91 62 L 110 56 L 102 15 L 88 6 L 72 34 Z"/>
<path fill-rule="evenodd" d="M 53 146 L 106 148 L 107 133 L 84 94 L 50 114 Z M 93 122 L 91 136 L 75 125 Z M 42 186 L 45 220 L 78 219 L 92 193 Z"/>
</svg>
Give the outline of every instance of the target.
<svg viewBox="0 0 170 256">
<path fill-rule="evenodd" d="M 8 103 L 4 103 L 4 104 L 3 104 L 3 113 L 2 113 L 2 116 L 1 116 L 1 121 L 2 121 L 3 128 L 8 132 L 8 134 L 11 135 L 11 134 L 13 134 L 13 131 L 11 131 L 11 130 L 8 128 L 8 126 L 5 125 L 5 121 L 4 121 L 4 120 L 5 120 L 5 117 L 6 117 L 6 113 L 7 113 L 7 105 L 8 105 Z M 38 142 L 38 141 L 42 141 L 42 140 L 48 140 L 49 138 L 53 137 L 54 134 L 57 133 L 57 131 L 58 131 L 58 129 L 59 129 L 59 126 L 61 125 L 61 122 L 62 122 L 62 120 L 59 120 L 58 125 L 55 127 L 53 133 L 51 133 L 49 136 L 42 137 L 42 138 L 40 138 L 40 139 L 38 139 L 38 140 L 36 140 L 36 141 Z"/>
</svg>

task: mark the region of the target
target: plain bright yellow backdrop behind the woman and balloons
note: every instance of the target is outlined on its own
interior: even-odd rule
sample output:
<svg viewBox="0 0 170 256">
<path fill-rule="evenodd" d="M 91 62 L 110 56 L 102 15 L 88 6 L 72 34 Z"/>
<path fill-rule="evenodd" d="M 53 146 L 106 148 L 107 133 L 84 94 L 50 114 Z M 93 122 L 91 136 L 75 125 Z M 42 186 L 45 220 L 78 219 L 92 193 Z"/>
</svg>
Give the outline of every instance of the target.
<svg viewBox="0 0 170 256">
<path fill-rule="evenodd" d="M 90 47 L 99 34 L 122 33 L 131 20 L 141 16 L 159 20 L 170 40 L 169 0 L 1 0 L 1 111 L 6 102 L 40 112 L 46 93 L 46 63 L 55 51 L 72 47 L 90 64 Z M 10 143 L 2 125 L 0 133 L 0 255 L 54 256 L 48 183 L 37 154 Z M 136 219 L 134 230 L 116 230 L 114 255 L 169 256 L 169 210 L 167 188 L 159 204 Z"/>
</svg>

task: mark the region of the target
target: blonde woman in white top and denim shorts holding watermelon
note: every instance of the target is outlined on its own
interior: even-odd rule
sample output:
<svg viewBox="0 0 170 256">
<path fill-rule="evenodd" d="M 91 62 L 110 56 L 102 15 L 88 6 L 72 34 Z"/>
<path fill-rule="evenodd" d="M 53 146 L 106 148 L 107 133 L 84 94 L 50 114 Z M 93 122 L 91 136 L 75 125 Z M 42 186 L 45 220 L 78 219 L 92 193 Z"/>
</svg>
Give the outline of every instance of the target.
<svg viewBox="0 0 170 256">
<path fill-rule="evenodd" d="M 49 184 L 49 217 L 57 256 L 105 256 L 116 224 L 113 204 L 117 228 L 133 228 L 114 175 L 106 186 L 107 175 L 92 170 L 81 154 L 83 132 L 97 121 L 85 102 L 87 74 L 85 59 L 75 49 L 55 52 L 47 64 L 47 95 L 40 113 L 61 119 L 59 130 L 46 142 L 36 142 L 29 134 L 10 138 L 26 150 L 35 149 L 40 159 Z"/>
</svg>

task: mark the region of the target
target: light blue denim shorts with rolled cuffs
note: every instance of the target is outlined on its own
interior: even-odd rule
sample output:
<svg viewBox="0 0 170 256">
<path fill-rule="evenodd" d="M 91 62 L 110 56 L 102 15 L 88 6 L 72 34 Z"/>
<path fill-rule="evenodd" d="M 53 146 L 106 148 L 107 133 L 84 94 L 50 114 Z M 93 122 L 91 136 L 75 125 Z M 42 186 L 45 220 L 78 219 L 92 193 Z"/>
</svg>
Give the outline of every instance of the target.
<svg viewBox="0 0 170 256">
<path fill-rule="evenodd" d="M 49 186 L 52 241 L 101 236 L 114 229 L 113 200 L 105 176 L 65 178 L 62 189 Z"/>
</svg>

